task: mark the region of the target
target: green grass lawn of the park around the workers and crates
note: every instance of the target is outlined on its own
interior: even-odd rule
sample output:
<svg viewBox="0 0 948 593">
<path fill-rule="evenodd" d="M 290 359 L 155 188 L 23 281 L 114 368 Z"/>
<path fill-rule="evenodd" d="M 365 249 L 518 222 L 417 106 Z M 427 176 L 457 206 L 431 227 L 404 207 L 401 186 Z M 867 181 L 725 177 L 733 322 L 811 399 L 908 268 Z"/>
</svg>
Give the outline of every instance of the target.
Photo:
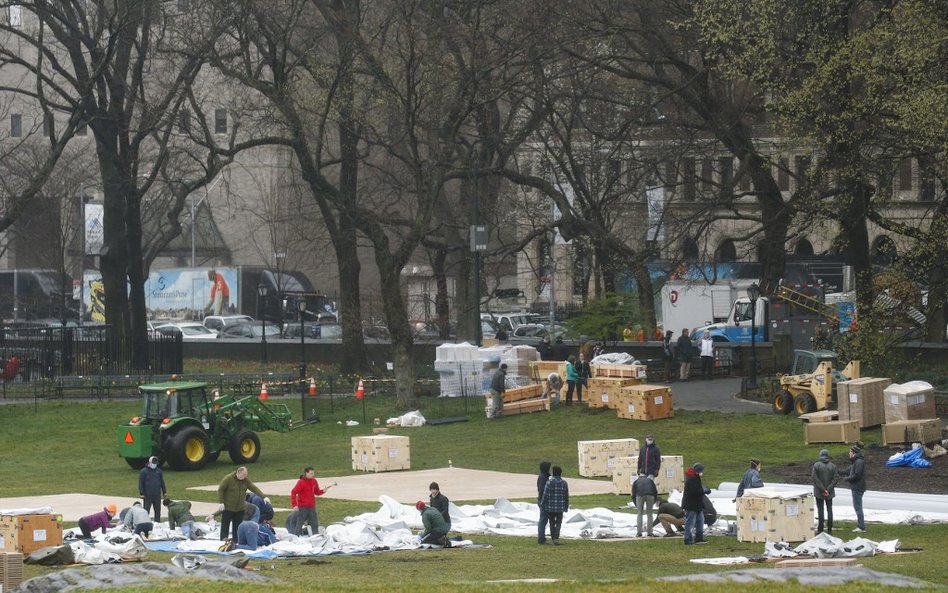
<svg viewBox="0 0 948 593">
<path fill-rule="evenodd" d="M 299 414 L 298 400 L 288 402 Z M 351 471 L 349 439 L 364 435 L 368 426 L 347 427 L 352 418 L 362 421 L 363 408 L 356 400 L 336 400 L 333 410 L 321 403 L 322 422 L 287 434 L 261 435 L 263 453 L 251 467 L 257 481 L 295 478 L 306 465 L 317 468 L 317 476 L 345 475 Z M 479 404 L 479 402 L 478 402 Z M 423 407 L 459 406 L 459 402 L 423 402 Z M 736 481 L 751 456 L 768 464 L 810 463 L 819 447 L 803 444 L 802 429 L 795 418 L 770 414 L 717 414 L 680 411 L 675 418 L 652 422 L 620 420 L 614 412 L 588 411 L 584 407 L 561 407 L 550 413 L 513 416 L 488 421 L 477 406 L 467 404 L 470 421 L 414 429 L 394 429 L 411 437 L 412 469 L 455 466 L 472 469 L 533 474 L 540 460 L 563 466 L 567 479 L 577 476 L 576 441 L 604 438 L 656 436 L 664 454 L 685 456 L 687 464 L 701 461 L 705 482 L 716 485 Z M 464 408 L 457 408 L 458 411 Z M 115 453 L 115 426 L 136 415 L 138 404 L 129 401 L 43 402 L 33 405 L 0 406 L 0 497 L 89 492 L 135 496 L 137 474 Z M 453 410 L 441 409 L 441 415 Z M 369 398 L 365 417 L 398 415 L 391 398 Z M 845 446 L 831 446 L 833 454 Z M 212 492 L 187 491 L 189 486 L 217 483 L 233 469 L 226 455 L 198 472 L 166 472 L 170 494 L 176 498 L 216 501 Z M 764 480 L 767 480 L 766 466 Z M 426 485 L 419 485 L 424 491 Z M 452 500 L 464 501 L 463 492 L 446 492 Z M 503 496 L 498 492 L 498 496 Z M 289 498 L 272 497 L 274 505 L 288 507 Z M 624 505 L 625 496 L 574 497 L 576 508 Z M 470 501 L 470 502 L 493 502 Z M 376 503 L 321 500 L 321 523 L 339 521 L 348 515 L 376 510 Z M 278 521 L 282 517 L 277 517 Z M 840 533 L 848 531 L 846 524 Z M 922 548 L 917 554 L 879 556 L 862 560 L 868 568 L 915 576 L 938 585 L 948 585 L 943 550 L 948 526 L 876 526 L 873 539 L 898 538 L 903 546 Z M 537 546 L 532 538 L 473 536 L 488 549 L 438 552 L 392 552 L 357 557 L 294 559 L 270 564 L 254 562 L 262 574 L 278 580 L 272 585 L 227 585 L 228 591 L 485 591 L 499 585 L 496 579 L 553 578 L 564 582 L 550 585 L 505 584 L 505 591 L 693 591 L 695 585 L 658 583 L 657 576 L 730 570 L 688 562 L 699 556 L 758 555 L 761 544 L 737 542 L 735 538 L 712 538 L 709 546 L 684 547 L 677 539 L 635 542 L 569 541 L 560 547 Z M 152 553 L 149 560 L 165 561 L 169 555 Z M 27 567 L 27 576 L 50 569 Z M 702 591 L 757 591 L 760 585 L 707 585 Z M 219 591 L 220 584 L 165 583 L 152 588 L 120 591 Z M 803 591 L 798 584 L 768 585 L 768 591 Z M 836 591 L 874 591 L 881 587 L 859 584 L 834 587 Z"/>
</svg>

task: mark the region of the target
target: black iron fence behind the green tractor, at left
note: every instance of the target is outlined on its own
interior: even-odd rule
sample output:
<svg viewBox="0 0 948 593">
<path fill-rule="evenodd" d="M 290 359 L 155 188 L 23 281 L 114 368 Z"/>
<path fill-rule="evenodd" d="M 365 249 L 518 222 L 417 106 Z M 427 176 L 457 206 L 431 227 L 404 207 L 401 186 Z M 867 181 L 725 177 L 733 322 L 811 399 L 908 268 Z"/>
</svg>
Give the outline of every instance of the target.
<svg viewBox="0 0 948 593">
<path fill-rule="evenodd" d="M 14 360 L 15 358 L 15 360 Z M 148 338 L 144 369 L 132 364 L 132 345 L 109 336 L 107 326 L 3 328 L 0 364 L 6 381 L 34 381 L 79 375 L 180 373 L 183 348 L 180 336 Z"/>
</svg>

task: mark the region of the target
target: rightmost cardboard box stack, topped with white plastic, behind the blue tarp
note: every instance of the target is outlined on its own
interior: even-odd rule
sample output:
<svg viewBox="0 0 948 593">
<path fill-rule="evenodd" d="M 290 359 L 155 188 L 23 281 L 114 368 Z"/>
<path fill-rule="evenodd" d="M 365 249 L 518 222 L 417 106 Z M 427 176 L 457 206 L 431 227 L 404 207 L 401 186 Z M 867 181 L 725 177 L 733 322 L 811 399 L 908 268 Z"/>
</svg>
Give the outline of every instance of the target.
<svg viewBox="0 0 948 593">
<path fill-rule="evenodd" d="M 935 390 L 925 381 L 893 383 L 884 391 L 884 444 L 931 443 L 941 438 L 935 413 Z"/>
</svg>

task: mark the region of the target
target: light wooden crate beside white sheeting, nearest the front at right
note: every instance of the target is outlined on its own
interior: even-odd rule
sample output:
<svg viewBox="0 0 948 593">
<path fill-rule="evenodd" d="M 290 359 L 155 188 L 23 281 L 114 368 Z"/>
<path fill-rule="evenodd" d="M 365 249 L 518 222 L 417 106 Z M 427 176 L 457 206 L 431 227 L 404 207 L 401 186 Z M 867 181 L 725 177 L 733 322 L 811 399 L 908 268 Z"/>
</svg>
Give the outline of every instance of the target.
<svg viewBox="0 0 948 593">
<path fill-rule="evenodd" d="M 737 541 L 800 542 L 813 537 L 813 501 L 808 495 L 737 499 Z"/>
</svg>

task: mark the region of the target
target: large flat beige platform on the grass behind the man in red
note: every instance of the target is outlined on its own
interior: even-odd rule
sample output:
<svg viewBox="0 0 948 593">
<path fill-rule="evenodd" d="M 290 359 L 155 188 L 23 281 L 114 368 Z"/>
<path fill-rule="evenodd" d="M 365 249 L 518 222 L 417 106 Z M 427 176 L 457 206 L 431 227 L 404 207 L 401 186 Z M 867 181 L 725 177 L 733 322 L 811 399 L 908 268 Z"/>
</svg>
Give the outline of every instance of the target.
<svg viewBox="0 0 948 593">
<path fill-rule="evenodd" d="M 251 474 L 252 479 L 252 474 Z M 464 500 L 496 500 L 497 498 L 531 498 L 537 495 L 536 474 L 513 474 L 460 467 L 443 467 L 419 471 L 398 471 L 360 474 L 356 476 L 316 476 L 322 488 L 337 483 L 323 498 L 375 502 L 385 494 L 403 504 L 428 500 L 428 484 L 437 482 L 452 502 Z M 612 481 L 566 478 L 571 496 L 611 494 Z M 255 482 L 267 496 L 289 496 L 296 479 Z M 197 486 L 190 490 L 213 491 L 217 485 Z"/>
</svg>

